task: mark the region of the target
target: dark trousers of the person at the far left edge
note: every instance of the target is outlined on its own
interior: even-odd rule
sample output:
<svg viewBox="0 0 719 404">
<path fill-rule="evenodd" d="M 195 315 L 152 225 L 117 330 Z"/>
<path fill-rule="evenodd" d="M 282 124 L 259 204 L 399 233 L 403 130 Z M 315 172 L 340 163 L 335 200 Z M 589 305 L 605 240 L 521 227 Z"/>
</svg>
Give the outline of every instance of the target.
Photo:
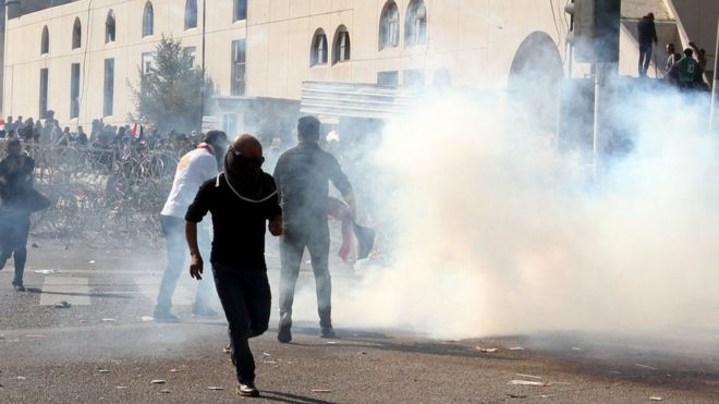
<svg viewBox="0 0 719 404">
<path fill-rule="evenodd" d="M 15 286 L 23 285 L 28 233 L 28 212 L 23 210 L 3 210 L 0 212 L 0 270 L 4 268 L 8 259 L 13 257 L 15 278 L 12 284 Z"/>
</svg>

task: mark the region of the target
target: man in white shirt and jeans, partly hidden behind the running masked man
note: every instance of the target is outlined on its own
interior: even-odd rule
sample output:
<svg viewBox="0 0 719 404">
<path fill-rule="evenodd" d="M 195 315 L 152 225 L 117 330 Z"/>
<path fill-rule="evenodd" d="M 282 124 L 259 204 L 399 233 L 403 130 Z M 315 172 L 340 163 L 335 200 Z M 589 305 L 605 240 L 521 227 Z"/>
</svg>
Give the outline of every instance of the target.
<svg viewBox="0 0 719 404">
<path fill-rule="evenodd" d="M 162 274 L 162 283 L 160 284 L 160 292 L 153 315 L 156 321 L 179 321 L 179 318 L 170 309 L 172 307 L 172 294 L 178 285 L 180 274 L 185 268 L 188 255 L 184 231 L 185 213 L 190 204 L 195 199 L 199 186 L 205 181 L 217 176 L 219 161 L 224 156 L 227 145 L 228 137 L 224 132 L 209 131 L 205 135 L 204 143 L 197 145 L 197 148 L 184 155 L 178 162 L 172 191 L 170 191 L 170 195 L 160 212 L 160 224 L 167 245 L 168 267 Z M 208 228 L 200 230 L 199 244 L 202 249 L 209 252 Z M 209 307 L 211 291 L 211 281 L 203 280 L 197 284 L 195 303 L 192 307 L 193 316 L 218 317 L 218 313 Z"/>
</svg>

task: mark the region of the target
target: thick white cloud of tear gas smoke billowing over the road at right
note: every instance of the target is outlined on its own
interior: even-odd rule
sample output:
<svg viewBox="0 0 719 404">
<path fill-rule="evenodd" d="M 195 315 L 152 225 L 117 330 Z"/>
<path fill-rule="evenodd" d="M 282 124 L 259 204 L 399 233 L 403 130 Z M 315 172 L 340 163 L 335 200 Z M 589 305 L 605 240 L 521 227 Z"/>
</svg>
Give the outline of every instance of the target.
<svg viewBox="0 0 719 404">
<path fill-rule="evenodd" d="M 340 325 L 435 336 L 717 325 L 719 172 L 697 108 L 647 93 L 618 110 L 633 151 L 602 181 L 501 102 L 443 96 L 387 126 L 389 265 L 338 281 Z M 312 313 L 312 311 L 309 311 Z"/>
</svg>

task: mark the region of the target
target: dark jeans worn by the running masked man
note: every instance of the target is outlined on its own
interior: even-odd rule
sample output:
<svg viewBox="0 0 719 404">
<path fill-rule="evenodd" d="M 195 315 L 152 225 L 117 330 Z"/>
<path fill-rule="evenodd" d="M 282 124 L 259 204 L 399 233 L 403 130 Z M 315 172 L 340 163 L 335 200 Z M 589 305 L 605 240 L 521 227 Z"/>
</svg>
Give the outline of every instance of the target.
<svg viewBox="0 0 719 404">
<path fill-rule="evenodd" d="M 230 323 L 232 362 L 237 381 L 255 381 L 255 358 L 249 339 L 261 335 L 269 325 L 272 295 L 266 271 L 245 271 L 212 262 L 215 286 Z"/>
</svg>

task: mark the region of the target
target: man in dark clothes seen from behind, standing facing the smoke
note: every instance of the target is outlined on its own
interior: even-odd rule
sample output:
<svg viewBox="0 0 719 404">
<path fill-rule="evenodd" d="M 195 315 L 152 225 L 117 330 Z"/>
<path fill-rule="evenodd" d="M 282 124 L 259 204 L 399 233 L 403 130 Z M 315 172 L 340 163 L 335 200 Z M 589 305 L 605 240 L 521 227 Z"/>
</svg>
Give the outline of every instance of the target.
<svg viewBox="0 0 719 404">
<path fill-rule="evenodd" d="M 329 259 L 329 182 L 342 194 L 356 212 L 352 185 L 340 163 L 319 148 L 319 121 L 303 117 L 297 122 L 300 144 L 285 151 L 275 168 L 275 181 L 280 194 L 284 233 L 280 240 L 280 326 L 278 340 L 292 341 L 292 303 L 305 247 L 309 250 L 317 287 L 317 311 L 322 338 L 333 338 L 331 319 L 332 283 Z"/>
</svg>

